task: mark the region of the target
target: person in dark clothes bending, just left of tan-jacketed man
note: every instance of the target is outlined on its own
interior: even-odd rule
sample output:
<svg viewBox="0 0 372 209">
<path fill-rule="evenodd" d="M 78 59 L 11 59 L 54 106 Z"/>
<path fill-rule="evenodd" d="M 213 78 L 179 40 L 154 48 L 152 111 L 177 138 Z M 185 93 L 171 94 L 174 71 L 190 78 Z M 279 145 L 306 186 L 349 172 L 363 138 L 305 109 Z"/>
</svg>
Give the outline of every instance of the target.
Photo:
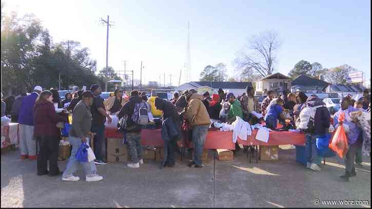
<svg viewBox="0 0 372 209">
<path fill-rule="evenodd" d="M 177 141 L 181 134 L 180 117 L 171 102 L 156 98 L 155 107 L 163 111 L 162 138 L 165 140 L 164 148 L 166 149 L 166 154 L 164 154 L 166 159 L 163 161 L 163 167 L 173 167 L 175 165 Z"/>
</svg>

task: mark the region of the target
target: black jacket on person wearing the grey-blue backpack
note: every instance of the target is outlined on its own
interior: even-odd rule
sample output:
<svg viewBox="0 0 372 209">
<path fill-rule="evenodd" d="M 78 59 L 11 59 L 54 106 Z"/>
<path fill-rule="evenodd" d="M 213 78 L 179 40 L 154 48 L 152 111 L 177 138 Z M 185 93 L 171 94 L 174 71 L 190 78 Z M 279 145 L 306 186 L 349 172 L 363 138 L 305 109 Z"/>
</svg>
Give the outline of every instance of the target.
<svg viewBox="0 0 372 209">
<path fill-rule="evenodd" d="M 129 101 L 125 103 L 125 105 L 120 109 L 118 112 L 118 118 L 119 120 L 123 118 L 124 116 L 128 116 L 127 119 L 127 132 L 140 132 L 142 129 L 142 126 L 139 124 L 136 124 L 132 121 L 132 115 L 134 112 L 134 107 L 136 103 L 141 103 L 142 98 L 141 97 L 130 97 Z"/>
</svg>

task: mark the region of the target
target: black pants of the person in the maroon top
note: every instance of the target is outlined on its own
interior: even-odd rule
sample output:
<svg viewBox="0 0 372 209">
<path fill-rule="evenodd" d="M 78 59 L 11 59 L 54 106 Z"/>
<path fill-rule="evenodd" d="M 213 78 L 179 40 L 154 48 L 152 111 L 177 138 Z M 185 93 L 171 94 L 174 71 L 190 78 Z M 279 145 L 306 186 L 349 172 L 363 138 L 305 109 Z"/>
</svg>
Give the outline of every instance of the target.
<svg viewBox="0 0 372 209">
<path fill-rule="evenodd" d="M 38 137 L 37 143 L 40 147 L 37 156 L 37 175 L 44 175 L 48 172 L 48 160 L 49 175 L 58 175 L 60 173 L 60 169 L 58 169 L 57 164 L 58 147 L 60 143 L 58 137 Z"/>
</svg>

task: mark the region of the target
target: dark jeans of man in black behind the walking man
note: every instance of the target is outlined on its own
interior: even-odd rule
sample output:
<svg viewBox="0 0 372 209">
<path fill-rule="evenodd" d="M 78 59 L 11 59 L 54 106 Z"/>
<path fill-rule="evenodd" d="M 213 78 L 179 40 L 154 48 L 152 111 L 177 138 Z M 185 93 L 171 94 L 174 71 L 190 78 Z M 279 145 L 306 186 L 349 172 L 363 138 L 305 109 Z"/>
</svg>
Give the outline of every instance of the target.
<svg viewBox="0 0 372 209">
<path fill-rule="evenodd" d="M 92 125 L 94 135 L 94 155 L 97 160 L 106 160 L 105 125 Z"/>
</svg>

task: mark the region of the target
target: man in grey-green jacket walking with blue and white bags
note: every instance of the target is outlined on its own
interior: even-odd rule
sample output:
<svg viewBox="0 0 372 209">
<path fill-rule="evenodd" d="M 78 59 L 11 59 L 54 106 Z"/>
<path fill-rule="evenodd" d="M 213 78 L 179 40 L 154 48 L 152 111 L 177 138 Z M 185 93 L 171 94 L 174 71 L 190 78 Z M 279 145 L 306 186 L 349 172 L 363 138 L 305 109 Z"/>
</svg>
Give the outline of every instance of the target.
<svg viewBox="0 0 372 209">
<path fill-rule="evenodd" d="M 72 145 L 71 156 L 67 163 L 66 170 L 62 175 L 63 181 L 79 181 L 80 178 L 73 176 L 79 163 L 83 166 L 86 177 L 86 181 L 100 181 L 103 179 L 102 176 L 96 174 L 97 168 L 93 161 L 90 162 L 78 162 L 75 159 L 77 149 L 82 143 L 89 144 L 90 127 L 92 123 L 92 115 L 90 107 L 93 104 L 93 93 L 91 91 L 84 91 L 83 99 L 77 103 L 72 112 L 72 125 L 69 131 L 68 141 Z"/>
</svg>

